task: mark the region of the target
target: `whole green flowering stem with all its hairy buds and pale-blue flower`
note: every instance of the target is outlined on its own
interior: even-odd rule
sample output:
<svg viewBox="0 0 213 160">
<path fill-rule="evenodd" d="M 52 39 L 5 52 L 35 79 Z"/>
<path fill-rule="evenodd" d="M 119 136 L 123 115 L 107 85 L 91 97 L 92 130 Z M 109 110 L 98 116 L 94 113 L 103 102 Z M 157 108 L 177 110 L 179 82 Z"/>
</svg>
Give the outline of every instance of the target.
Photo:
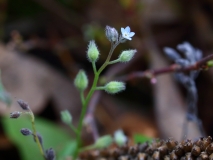
<svg viewBox="0 0 213 160">
<path fill-rule="evenodd" d="M 95 44 L 94 40 L 91 40 L 88 45 L 87 58 L 88 58 L 89 62 L 92 63 L 95 77 L 94 77 L 92 87 L 86 97 L 84 97 L 84 91 L 88 87 L 88 78 L 87 78 L 85 72 L 83 70 L 80 70 L 74 80 L 74 85 L 80 91 L 81 101 L 83 104 L 83 109 L 82 109 L 78 128 L 76 129 L 72 125 L 72 123 L 71 123 L 72 116 L 68 111 L 61 112 L 61 116 L 62 116 L 61 118 L 62 118 L 63 122 L 68 124 L 71 127 L 71 129 L 77 134 L 77 143 L 78 143 L 77 145 L 78 146 L 81 144 L 80 136 L 81 136 L 82 126 L 83 126 L 83 119 L 84 119 L 85 113 L 86 113 L 84 111 L 86 111 L 86 107 L 87 107 L 88 102 L 89 102 L 91 96 L 93 95 L 94 91 L 95 90 L 104 90 L 105 92 L 107 92 L 109 94 L 116 94 L 116 93 L 119 93 L 119 92 L 125 90 L 125 88 L 126 88 L 125 84 L 123 82 L 118 82 L 118 81 L 111 81 L 111 82 L 106 83 L 103 86 L 97 86 L 101 72 L 105 69 L 105 67 L 107 65 L 111 65 L 114 63 L 118 63 L 118 62 L 121 62 L 121 63 L 129 62 L 136 53 L 136 50 L 122 51 L 116 60 L 110 61 L 112 53 L 114 52 L 117 45 L 119 43 L 125 42 L 126 40 L 132 40 L 132 37 L 134 36 L 135 33 L 131 32 L 130 27 L 127 26 L 126 28 L 121 28 L 121 35 L 119 36 L 119 34 L 115 28 L 106 26 L 105 34 L 106 34 L 107 39 L 111 42 L 111 49 L 106 58 L 106 61 L 103 63 L 103 65 L 98 70 L 96 68 L 96 62 L 99 58 L 100 52 L 99 52 L 98 47 Z M 116 137 L 115 142 L 118 145 L 122 145 L 123 142 L 126 141 L 125 136 L 124 136 L 124 134 L 122 134 L 122 132 L 118 132 L 115 135 L 115 137 Z M 95 144 L 93 144 L 91 146 L 87 146 L 86 149 L 105 148 L 106 145 L 110 145 L 112 143 L 112 141 L 113 141 L 113 138 L 111 136 L 104 136 L 104 137 L 99 138 L 95 142 Z"/>
</svg>

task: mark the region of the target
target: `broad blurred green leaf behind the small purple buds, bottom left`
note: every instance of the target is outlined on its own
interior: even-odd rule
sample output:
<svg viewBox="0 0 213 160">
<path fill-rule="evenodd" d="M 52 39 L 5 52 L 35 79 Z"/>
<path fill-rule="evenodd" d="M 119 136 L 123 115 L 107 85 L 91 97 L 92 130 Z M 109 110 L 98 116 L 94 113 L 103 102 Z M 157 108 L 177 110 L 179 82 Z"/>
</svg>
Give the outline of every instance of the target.
<svg viewBox="0 0 213 160">
<path fill-rule="evenodd" d="M 41 118 L 36 118 L 35 123 L 37 132 L 42 136 L 44 148 L 49 149 L 52 147 L 56 152 L 56 157 L 57 154 L 64 149 L 67 142 L 73 142 L 68 133 L 54 123 Z M 20 117 L 18 119 L 10 119 L 9 116 L 3 117 L 2 124 L 7 136 L 17 145 L 22 160 L 44 159 L 33 137 L 23 136 L 20 133 L 22 128 L 29 128 L 32 130 L 29 117 Z"/>
</svg>

